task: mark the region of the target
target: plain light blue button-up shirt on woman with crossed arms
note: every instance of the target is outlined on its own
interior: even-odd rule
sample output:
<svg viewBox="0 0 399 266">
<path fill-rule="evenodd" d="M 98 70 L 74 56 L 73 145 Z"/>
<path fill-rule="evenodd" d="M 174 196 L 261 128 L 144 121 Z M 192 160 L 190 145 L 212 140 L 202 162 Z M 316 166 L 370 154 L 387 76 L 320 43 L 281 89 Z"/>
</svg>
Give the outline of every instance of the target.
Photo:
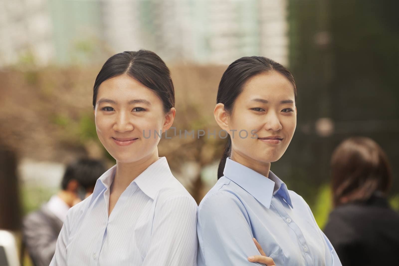
<svg viewBox="0 0 399 266">
<path fill-rule="evenodd" d="M 198 207 L 198 266 L 263 265 L 252 238 L 277 266 L 341 266 L 304 199 L 275 174 L 269 178 L 227 158 Z"/>
</svg>

